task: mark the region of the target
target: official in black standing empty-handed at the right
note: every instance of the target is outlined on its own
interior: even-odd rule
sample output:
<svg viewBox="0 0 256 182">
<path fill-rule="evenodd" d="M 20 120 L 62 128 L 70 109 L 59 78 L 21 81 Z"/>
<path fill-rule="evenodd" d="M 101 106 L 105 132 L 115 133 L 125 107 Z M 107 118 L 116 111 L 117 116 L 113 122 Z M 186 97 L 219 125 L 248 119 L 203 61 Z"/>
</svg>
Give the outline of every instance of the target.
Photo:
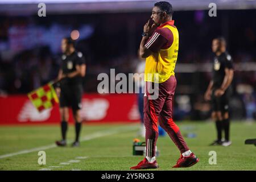
<svg viewBox="0 0 256 182">
<path fill-rule="evenodd" d="M 216 121 L 217 140 L 211 145 L 229 146 L 232 143 L 229 140 L 229 98 L 232 94 L 233 61 L 226 52 L 224 38 L 213 39 L 212 51 L 216 55 L 213 59 L 213 78 L 204 96 L 205 100 L 212 101 L 212 118 Z M 225 140 L 222 140 L 222 130 Z"/>
</svg>

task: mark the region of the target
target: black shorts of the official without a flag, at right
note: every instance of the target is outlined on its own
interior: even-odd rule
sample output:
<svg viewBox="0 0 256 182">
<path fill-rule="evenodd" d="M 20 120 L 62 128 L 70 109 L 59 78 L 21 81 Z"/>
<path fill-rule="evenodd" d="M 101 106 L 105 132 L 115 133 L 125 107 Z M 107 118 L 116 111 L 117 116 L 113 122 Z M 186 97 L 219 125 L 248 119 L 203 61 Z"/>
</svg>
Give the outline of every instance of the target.
<svg viewBox="0 0 256 182">
<path fill-rule="evenodd" d="M 229 111 L 229 98 L 232 95 L 232 90 L 229 88 L 225 91 L 225 93 L 220 96 L 214 96 L 214 92 L 216 89 L 213 89 L 212 92 L 212 110 L 213 111 L 221 111 L 221 113 L 225 113 Z"/>
</svg>

